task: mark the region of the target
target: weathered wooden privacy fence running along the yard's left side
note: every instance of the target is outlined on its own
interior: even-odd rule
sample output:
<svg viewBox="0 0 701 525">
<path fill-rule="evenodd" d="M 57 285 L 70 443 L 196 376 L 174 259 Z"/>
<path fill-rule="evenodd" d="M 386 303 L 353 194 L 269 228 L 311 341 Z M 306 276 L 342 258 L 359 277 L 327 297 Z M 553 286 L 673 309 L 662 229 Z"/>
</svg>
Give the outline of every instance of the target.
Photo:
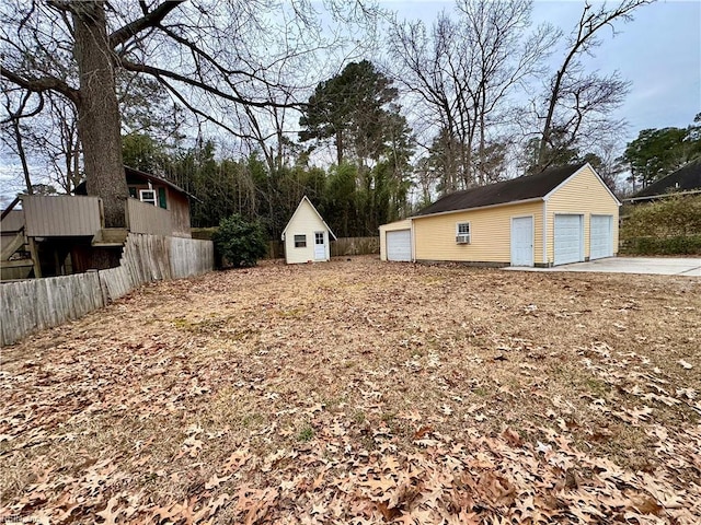
<svg viewBox="0 0 701 525">
<path fill-rule="evenodd" d="M 131 233 L 116 268 L 0 284 L 2 345 L 78 319 L 147 282 L 197 276 L 212 268 L 210 241 Z"/>
</svg>

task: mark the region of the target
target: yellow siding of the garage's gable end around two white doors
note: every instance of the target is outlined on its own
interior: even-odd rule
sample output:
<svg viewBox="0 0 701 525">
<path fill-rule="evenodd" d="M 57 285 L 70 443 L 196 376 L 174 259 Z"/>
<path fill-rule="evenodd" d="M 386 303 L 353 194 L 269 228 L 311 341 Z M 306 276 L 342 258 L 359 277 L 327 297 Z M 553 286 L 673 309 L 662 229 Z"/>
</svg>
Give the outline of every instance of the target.
<svg viewBox="0 0 701 525">
<path fill-rule="evenodd" d="M 589 221 L 591 215 L 613 215 L 613 254 L 618 253 L 618 201 L 588 165 L 570 177 L 547 201 L 548 262 L 554 259 L 555 213 L 584 215 L 584 257 L 589 258 Z M 542 255 L 541 255 L 542 259 Z"/>
</svg>

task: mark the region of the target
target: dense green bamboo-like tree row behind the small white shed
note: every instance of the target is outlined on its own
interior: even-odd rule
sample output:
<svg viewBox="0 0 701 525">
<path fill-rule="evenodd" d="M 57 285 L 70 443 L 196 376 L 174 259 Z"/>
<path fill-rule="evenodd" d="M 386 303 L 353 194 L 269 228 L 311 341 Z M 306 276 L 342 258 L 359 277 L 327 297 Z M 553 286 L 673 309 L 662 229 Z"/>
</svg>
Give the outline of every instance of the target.
<svg viewBox="0 0 701 525">
<path fill-rule="evenodd" d="M 279 238 L 304 195 L 343 237 L 377 235 L 380 224 L 411 211 L 410 183 L 388 160 L 364 173 L 345 161 L 327 170 L 298 162 L 271 171 L 257 152 L 238 159 L 216 153 L 212 140 L 177 151 L 163 151 L 142 135 L 124 142 L 128 166 L 160 174 L 195 197 L 191 215 L 196 228 L 216 226 L 235 213 L 260 220 L 272 238 Z"/>
</svg>

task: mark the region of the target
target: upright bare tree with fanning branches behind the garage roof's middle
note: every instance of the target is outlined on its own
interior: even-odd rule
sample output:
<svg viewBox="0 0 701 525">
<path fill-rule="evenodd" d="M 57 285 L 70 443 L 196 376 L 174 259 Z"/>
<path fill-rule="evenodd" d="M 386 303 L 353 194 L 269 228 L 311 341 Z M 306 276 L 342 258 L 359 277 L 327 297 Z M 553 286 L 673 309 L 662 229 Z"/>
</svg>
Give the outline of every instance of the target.
<svg viewBox="0 0 701 525">
<path fill-rule="evenodd" d="M 394 21 L 388 39 L 404 83 L 433 115 L 438 129 L 444 191 L 485 184 L 493 173 L 497 130 L 510 119 L 516 88 L 540 71 L 556 32 L 530 32 L 530 0 L 459 0 L 428 31 Z M 492 154 L 489 162 L 487 154 Z"/>
</svg>

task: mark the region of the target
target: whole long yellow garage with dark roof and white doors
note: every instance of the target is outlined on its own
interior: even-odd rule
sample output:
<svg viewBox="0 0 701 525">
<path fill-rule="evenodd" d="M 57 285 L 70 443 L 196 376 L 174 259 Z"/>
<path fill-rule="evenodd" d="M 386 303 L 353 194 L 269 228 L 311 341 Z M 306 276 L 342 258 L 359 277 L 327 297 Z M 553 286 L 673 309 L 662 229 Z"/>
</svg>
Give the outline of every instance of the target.
<svg viewBox="0 0 701 525">
<path fill-rule="evenodd" d="M 457 191 L 380 226 L 382 260 L 565 265 L 618 253 L 620 201 L 589 164 Z"/>
</svg>

